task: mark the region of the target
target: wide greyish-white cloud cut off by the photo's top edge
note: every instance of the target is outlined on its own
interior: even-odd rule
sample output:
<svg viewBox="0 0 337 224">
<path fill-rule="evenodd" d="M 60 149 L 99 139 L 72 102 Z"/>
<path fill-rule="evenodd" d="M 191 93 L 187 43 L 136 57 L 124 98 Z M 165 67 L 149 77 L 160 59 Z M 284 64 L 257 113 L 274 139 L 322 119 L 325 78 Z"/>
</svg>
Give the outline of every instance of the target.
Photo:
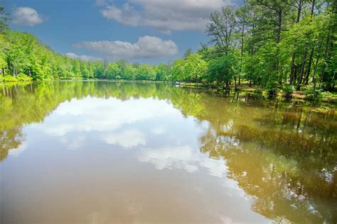
<svg viewBox="0 0 337 224">
<path fill-rule="evenodd" d="M 150 26 L 162 33 L 205 30 L 211 12 L 233 5 L 231 0 L 129 0 L 121 7 L 100 3 L 100 13 L 108 20 L 128 26 Z"/>
</svg>

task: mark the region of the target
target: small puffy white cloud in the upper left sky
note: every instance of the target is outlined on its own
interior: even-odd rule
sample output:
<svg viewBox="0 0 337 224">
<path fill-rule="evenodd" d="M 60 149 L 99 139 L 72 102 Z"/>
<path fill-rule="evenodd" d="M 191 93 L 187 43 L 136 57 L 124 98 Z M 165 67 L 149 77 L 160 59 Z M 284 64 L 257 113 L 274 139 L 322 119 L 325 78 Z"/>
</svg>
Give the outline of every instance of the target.
<svg viewBox="0 0 337 224">
<path fill-rule="evenodd" d="M 13 22 L 21 26 L 36 26 L 43 22 L 38 12 L 29 7 L 18 7 L 13 13 Z"/>
</svg>

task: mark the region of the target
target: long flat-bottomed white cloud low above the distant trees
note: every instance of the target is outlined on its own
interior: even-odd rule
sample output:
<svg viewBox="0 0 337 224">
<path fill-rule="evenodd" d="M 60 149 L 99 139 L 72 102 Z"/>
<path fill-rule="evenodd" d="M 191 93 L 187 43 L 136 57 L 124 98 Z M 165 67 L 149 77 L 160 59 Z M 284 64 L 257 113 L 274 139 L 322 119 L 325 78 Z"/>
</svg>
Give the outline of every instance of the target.
<svg viewBox="0 0 337 224">
<path fill-rule="evenodd" d="M 83 41 L 74 47 L 85 48 L 110 59 L 171 57 L 178 52 L 178 46 L 172 40 L 149 35 L 139 38 L 137 43 L 119 40 Z"/>
</svg>

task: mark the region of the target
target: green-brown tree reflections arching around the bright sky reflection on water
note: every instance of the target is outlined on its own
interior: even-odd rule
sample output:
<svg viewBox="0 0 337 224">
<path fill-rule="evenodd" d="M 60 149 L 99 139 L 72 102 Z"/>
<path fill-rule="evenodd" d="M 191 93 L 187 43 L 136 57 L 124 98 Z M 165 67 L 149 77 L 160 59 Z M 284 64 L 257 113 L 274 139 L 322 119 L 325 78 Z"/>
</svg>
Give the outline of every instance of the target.
<svg viewBox="0 0 337 224">
<path fill-rule="evenodd" d="M 252 211 L 274 220 L 336 223 L 337 119 L 333 105 L 266 101 L 166 84 L 36 82 L 0 86 L 0 161 L 58 105 L 87 96 L 154 98 L 207 121 L 200 152 L 223 159 L 228 176 L 253 196 Z"/>
</svg>

